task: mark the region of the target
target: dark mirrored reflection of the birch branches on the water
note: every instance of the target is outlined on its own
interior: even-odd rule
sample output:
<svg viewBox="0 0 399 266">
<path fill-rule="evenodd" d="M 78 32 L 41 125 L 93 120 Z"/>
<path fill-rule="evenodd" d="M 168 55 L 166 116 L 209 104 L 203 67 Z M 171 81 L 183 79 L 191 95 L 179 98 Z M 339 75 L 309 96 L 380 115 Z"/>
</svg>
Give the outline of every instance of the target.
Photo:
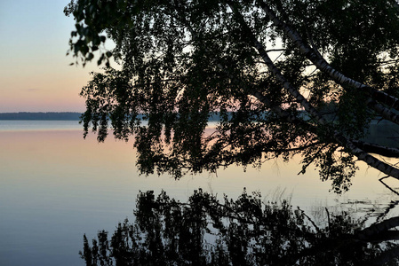
<svg viewBox="0 0 399 266">
<path fill-rule="evenodd" d="M 328 213 L 327 213 L 328 214 Z M 287 201 L 263 202 L 259 192 L 217 200 L 195 191 L 188 203 L 165 192 L 140 192 L 135 221 L 112 238 L 84 236 L 86 265 L 397 265 L 399 217 L 363 230 L 347 213 L 318 226 Z"/>
</svg>

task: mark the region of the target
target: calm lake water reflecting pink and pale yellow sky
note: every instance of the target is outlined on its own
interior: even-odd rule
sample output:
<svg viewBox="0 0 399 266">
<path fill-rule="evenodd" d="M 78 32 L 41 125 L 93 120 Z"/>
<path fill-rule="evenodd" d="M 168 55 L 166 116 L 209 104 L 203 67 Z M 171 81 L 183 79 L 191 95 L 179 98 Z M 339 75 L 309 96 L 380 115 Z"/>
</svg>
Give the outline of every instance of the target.
<svg viewBox="0 0 399 266">
<path fill-rule="evenodd" d="M 139 176 L 135 157 L 131 143 L 108 138 L 98 144 L 94 135 L 84 140 L 76 121 L 0 121 L 0 265 L 84 265 L 78 255 L 84 233 L 92 239 L 98 230 L 113 231 L 132 217 L 139 191 L 164 189 L 187 200 L 198 187 L 233 198 L 246 187 L 267 200 L 285 190 L 291 204 L 309 214 L 316 207 L 339 208 L 340 202 L 365 200 L 378 209 L 399 200 L 363 164 L 350 192 L 339 197 L 316 171 L 297 176 L 299 158 L 268 161 L 260 171 L 230 167 L 174 181 Z"/>
</svg>

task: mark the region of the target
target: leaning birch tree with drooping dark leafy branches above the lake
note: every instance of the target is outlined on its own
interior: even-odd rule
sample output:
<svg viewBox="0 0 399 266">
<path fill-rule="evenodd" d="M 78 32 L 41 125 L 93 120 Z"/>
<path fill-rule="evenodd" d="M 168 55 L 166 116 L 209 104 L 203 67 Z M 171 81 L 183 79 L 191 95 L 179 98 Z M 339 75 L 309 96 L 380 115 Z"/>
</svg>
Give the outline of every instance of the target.
<svg viewBox="0 0 399 266">
<path fill-rule="evenodd" d="M 76 63 L 100 51 L 106 65 L 81 92 L 85 134 L 92 125 L 103 141 L 110 121 L 116 138 L 134 137 L 142 173 L 300 153 L 301 173 L 315 164 L 336 192 L 356 158 L 399 179 L 371 154 L 399 149 L 363 140 L 373 119 L 399 123 L 395 0 L 72 0 L 65 12 Z"/>
</svg>

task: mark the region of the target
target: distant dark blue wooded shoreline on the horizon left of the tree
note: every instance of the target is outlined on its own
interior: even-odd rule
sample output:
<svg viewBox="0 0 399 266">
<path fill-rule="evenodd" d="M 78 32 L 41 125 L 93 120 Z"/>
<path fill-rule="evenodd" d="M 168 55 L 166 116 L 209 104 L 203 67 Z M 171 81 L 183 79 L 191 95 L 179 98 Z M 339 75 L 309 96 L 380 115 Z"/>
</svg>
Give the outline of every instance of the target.
<svg viewBox="0 0 399 266">
<path fill-rule="evenodd" d="M 80 121 L 82 113 L 77 112 L 19 112 L 0 113 L 1 120 L 30 120 L 30 121 Z"/>
</svg>

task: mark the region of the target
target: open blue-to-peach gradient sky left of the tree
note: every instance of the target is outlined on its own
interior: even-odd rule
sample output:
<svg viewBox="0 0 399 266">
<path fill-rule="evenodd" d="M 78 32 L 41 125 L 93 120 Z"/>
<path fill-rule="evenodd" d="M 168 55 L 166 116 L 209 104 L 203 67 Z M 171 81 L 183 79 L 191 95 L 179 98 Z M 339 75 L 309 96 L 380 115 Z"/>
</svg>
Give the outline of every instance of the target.
<svg viewBox="0 0 399 266">
<path fill-rule="evenodd" d="M 83 112 L 95 63 L 69 66 L 69 0 L 0 0 L 0 113 Z"/>
</svg>

